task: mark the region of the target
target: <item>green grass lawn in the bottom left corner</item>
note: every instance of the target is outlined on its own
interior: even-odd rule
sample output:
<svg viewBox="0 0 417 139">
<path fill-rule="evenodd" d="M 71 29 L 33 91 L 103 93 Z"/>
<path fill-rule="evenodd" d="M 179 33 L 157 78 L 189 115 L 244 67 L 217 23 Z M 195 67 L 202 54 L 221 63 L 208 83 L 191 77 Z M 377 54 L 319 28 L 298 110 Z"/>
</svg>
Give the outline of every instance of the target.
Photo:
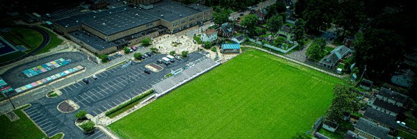
<svg viewBox="0 0 417 139">
<path fill-rule="evenodd" d="M 0 116 L 0 131 L 2 138 L 47 138 L 24 113 L 24 108 L 15 110 L 16 115 L 20 117 L 15 122 L 10 122 L 6 115 Z"/>
</svg>

